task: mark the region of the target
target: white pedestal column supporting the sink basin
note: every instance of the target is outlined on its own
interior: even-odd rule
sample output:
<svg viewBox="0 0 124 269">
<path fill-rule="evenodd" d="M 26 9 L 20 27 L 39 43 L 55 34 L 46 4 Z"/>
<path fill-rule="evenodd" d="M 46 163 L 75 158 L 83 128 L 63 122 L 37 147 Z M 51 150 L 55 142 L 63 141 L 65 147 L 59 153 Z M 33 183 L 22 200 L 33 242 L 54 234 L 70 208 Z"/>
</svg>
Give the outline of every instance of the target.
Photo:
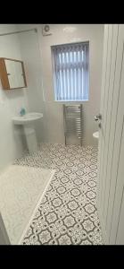
<svg viewBox="0 0 124 269">
<path fill-rule="evenodd" d="M 24 133 L 26 136 L 29 153 L 31 154 L 37 152 L 37 135 L 34 126 L 24 126 Z"/>
</svg>

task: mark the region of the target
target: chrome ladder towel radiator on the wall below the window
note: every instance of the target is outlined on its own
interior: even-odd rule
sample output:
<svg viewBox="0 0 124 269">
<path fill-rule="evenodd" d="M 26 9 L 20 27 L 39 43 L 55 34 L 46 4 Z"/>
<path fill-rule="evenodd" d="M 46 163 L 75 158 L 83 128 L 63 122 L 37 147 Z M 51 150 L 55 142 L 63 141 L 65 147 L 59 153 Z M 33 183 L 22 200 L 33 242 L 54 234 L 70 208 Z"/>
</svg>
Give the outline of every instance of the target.
<svg viewBox="0 0 124 269">
<path fill-rule="evenodd" d="M 63 124 L 65 144 L 67 144 L 67 136 L 76 135 L 82 146 L 82 104 L 73 106 L 63 105 Z"/>
</svg>

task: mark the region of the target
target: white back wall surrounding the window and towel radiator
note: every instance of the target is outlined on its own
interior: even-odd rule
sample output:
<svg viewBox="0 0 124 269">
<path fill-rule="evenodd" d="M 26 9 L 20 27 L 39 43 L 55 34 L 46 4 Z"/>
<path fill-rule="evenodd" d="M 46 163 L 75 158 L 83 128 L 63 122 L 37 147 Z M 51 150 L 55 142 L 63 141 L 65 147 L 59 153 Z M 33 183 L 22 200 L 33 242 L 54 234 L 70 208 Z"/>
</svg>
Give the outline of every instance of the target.
<svg viewBox="0 0 124 269">
<path fill-rule="evenodd" d="M 51 36 L 42 37 L 42 71 L 45 95 L 45 140 L 51 143 L 63 143 L 62 102 L 54 101 L 54 82 L 51 62 L 52 45 L 89 40 L 89 100 L 83 102 L 84 108 L 84 144 L 94 144 L 93 133 L 97 130 L 94 116 L 99 113 L 103 59 L 103 25 L 92 24 L 53 24 Z M 73 27 L 73 31 L 64 31 Z"/>
</svg>

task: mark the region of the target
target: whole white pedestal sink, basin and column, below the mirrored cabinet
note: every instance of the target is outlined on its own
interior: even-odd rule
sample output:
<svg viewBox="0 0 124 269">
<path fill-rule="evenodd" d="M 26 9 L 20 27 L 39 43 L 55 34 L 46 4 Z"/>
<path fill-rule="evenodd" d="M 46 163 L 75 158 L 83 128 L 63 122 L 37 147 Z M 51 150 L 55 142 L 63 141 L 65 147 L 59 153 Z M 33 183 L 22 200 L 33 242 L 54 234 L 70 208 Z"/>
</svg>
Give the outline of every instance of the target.
<svg viewBox="0 0 124 269">
<path fill-rule="evenodd" d="M 15 125 L 21 125 L 24 128 L 29 153 L 37 152 L 37 136 L 33 123 L 41 117 L 43 117 L 42 113 L 31 112 L 24 116 L 16 116 L 12 118 Z"/>
</svg>

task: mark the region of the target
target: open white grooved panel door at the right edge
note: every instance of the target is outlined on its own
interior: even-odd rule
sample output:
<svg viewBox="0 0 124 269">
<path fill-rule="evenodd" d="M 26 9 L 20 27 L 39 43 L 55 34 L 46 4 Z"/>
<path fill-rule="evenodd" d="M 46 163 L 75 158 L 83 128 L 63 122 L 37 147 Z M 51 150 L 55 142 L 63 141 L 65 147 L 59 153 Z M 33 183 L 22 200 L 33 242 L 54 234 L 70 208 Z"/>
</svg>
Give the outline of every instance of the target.
<svg viewBox="0 0 124 269">
<path fill-rule="evenodd" d="M 124 244 L 124 25 L 104 27 L 97 208 L 106 244 Z"/>
</svg>

